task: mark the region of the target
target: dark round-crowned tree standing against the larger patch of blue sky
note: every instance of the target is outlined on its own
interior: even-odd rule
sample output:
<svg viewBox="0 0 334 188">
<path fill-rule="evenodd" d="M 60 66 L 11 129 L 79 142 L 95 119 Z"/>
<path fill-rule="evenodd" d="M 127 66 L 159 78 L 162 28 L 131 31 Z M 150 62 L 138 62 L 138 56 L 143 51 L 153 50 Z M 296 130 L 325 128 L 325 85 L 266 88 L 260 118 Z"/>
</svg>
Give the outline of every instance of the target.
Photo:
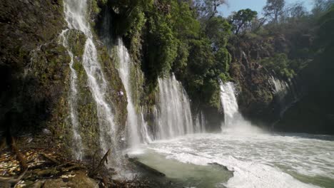
<svg viewBox="0 0 334 188">
<path fill-rule="evenodd" d="M 250 25 L 251 21 L 258 16 L 258 12 L 252 11 L 251 9 L 242 9 L 235 12 L 232 16 L 231 23 L 233 24 L 234 32 L 236 35 L 240 31 L 246 30 Z"/>
</svg>

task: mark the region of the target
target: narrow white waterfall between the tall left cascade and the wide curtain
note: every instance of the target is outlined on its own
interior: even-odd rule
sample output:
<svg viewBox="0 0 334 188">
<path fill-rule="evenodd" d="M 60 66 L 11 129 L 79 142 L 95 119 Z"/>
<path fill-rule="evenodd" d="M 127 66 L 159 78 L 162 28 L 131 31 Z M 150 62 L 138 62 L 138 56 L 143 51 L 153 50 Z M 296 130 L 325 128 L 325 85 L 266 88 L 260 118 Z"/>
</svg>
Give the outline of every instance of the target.
<svg viewBox="0 0 334 188">
<path fill-rule="evenodd" d="M 138 147 L 138 145 L 141 143 L 141 140 L 143 140 L 143 142 L 151 142 L 151 136 L 148 133 L 148 127 L 143 118 L 142 109 L 136 110 L 133 103 L 131 87 L 131 83 L 133 82 L 133 80 L 131 80 L 131 69 L 134 68 L 133 62 L 131 61 L 128 50 L 123 45 L 123 41 L 120 38 L 118 39 L 118 46 L 116 46 L 116 48 L 119 63 L 118 72 L 126 90 L 128 99 L 128 117 L 126 127 L 128 128 L 128 135 L 130 137 L 130 146 L 133 148 Z"/>
</svg>

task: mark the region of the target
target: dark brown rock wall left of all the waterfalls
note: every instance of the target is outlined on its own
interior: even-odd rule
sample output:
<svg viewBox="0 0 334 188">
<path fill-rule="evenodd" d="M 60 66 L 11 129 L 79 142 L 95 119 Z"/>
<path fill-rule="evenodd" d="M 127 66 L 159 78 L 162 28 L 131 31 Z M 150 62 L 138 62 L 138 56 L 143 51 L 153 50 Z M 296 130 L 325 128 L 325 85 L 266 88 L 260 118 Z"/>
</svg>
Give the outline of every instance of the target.
<svg viewBox="0 0 334 188">
<path fill-rule="evenodd" d="M 35 120 L 45 119 L 51 104 L 47 99 L 56 100 L 64 90 L 59 83 L 66 80 L 68 59 L 56 40 L 66 25 L 59 1 L 4 0 L 0 2 L 0 10 L 0 79 L 4 80 L 1 83 L 0 122 L 15 127 L 23 124 L 21 120 L 32 111 L 35 111 Z M 39 51 L 47 54 L 38 57 Z M 42 58 L 46 64 L 31 63 L 34 58 Z M 29 72 L 37 69 L 38 72 Z M 46 83 L 51 85 L 43 88 Z M 27 88 L 28 85 L 31 88 Z M 35 93 L 47 95 L 40 98 Z M 34 105 L 26 108 L 24 103 L 28 102 Z M 13 122 L 14 119 L 19 122 Z"/>
</svg>

